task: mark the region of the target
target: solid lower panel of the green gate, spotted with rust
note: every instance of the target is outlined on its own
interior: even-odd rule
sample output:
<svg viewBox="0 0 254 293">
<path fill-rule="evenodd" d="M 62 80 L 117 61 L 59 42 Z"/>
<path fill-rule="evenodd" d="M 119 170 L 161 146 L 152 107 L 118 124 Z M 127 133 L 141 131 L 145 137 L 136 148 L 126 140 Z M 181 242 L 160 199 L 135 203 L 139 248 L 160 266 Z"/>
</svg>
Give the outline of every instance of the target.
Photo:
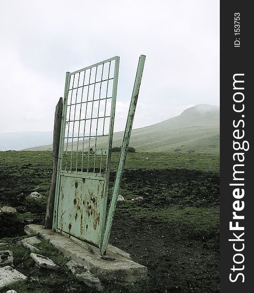
<svg viewBox="0 0 254 293">
<path fill-rule="evenodd" d="M 100 245 L 105 179 L 61 176 L 57 230 Z"/>
</svg>

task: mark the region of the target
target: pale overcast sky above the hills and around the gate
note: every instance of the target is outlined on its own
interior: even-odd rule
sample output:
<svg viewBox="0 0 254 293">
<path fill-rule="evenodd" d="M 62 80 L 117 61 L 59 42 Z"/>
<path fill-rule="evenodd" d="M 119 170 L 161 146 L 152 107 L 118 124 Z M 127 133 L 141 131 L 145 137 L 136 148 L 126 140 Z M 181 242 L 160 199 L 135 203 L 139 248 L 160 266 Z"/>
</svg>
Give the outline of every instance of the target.
<svg viewBox="0 0 254 293">
<path fill-rule="evenodd" d="M 1 0 L 0 132 L 51 131 L 65 72 L 120 56 L 115 130 L 219 105 L 219 0 Z"/>
</svg>

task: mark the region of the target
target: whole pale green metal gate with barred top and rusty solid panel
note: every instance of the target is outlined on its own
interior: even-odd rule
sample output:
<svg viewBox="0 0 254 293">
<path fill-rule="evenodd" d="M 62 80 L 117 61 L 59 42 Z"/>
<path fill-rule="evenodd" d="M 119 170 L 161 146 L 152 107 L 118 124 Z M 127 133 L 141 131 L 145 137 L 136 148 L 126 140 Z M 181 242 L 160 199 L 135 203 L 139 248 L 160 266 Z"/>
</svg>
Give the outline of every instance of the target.
<svg viewBox="0 0 254 293">
<path fill-rule="evenodd" d="M 97 247 L 105 229 L 119 60 L 67 72 L 65 79 L 53 229 Z"/>
</svg>

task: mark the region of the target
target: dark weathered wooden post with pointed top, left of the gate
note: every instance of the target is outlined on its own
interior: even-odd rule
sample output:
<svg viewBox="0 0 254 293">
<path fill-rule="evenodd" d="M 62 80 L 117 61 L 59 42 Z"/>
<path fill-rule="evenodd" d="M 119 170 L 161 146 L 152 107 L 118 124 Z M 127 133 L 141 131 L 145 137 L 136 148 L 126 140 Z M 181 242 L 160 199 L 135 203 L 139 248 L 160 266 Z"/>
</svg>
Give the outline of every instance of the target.
<svg viewBox="0 0 254 293">
<path fill-rule="evenodd" d="M 49 196 L 48 196 L 47 210 L 46 210 L 46 217 L 45 217 L 45 228 L 47 229 L 52 229 L 52 224 L 53 224 L 53 212 L 54 212 L 56 179 L 57 179 L 57 163 L 58 163 L 60 133 L 61 133 L 61 124 L 62 124 L 62 114 L 63 114 L 63 98 L 60 98 L 58 104 L 56 105 L 56 110 L 55 110 L 54 134 L 53 134 L 53 167 L 52 167 L 51 186 L 49 189 Z"/>
</svg>

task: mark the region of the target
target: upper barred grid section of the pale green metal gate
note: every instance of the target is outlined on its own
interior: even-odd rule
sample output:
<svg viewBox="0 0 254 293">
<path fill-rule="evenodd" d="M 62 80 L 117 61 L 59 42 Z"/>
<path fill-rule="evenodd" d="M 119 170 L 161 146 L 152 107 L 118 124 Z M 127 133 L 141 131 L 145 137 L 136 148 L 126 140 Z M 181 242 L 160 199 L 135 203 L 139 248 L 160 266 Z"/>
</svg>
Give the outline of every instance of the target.
<svg viewBox="0 0 254 293">
<path fill-rule="evenodd" d="M 97 155 L 100 137 L 108 137 L 115 109 L 113 84 L 119 57 L 69 73 L 65 107 L 62 170 L 105 172 L 108 154 Z M 113 101 L 113 102 L 112 102 Z M 110 140 L 110 138 L 108 138 Z"/>
</svg>

